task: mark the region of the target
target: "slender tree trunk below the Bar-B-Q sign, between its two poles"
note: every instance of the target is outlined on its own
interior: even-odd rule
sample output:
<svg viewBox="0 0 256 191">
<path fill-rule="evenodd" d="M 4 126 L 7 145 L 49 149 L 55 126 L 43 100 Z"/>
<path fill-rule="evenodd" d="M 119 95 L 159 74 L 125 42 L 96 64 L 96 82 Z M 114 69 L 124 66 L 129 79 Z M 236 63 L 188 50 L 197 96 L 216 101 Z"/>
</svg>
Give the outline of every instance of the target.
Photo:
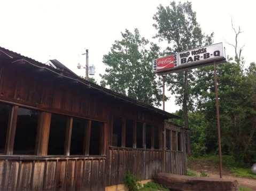
<svg viewBox="0 0 256 191">
<path fill-rule="evenodd" d="M 184 97 L 183 97 L 183 117 L 184 117 L 184 127 L 189 129 L 189 117 L 188 117 L 188 70 L 185 69 L 184 71 Z M 190 148 L 190 136 L 189 131 L 187 133 L 187 153 L 191 155 L 191 148 Z"/>
</svg>

